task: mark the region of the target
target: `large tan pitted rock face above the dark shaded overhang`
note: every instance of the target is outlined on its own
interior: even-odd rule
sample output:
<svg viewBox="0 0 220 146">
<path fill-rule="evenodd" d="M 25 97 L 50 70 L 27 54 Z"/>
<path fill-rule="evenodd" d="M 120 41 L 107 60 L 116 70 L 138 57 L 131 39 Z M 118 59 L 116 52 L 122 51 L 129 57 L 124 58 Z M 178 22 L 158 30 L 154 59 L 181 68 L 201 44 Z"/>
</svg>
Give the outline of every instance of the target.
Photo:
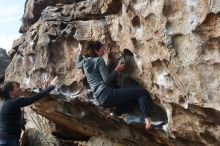
<svg viewBox="0 0 220 146">
<path fill-rule="evenodd" d="M 24 35 L 13 45 L 6 79 L 30 88 L 58 75 L 62 95 L 85 97 L 85 76 L 75 69 L 78 42 L 84 48 L 91 40 L 105 44 L 106 62 L 116 61 L 126 48 L 132 54 L 127 75 L 150 92 L 168 117 L 167 137 L 154 142 L 218 145 L 219 11 L 217 0 L 27 0 Z M 41 108 L 36 110 L 48 116 Z M 78 129 L 81 134 L 85 131 Z M 140 145 L 144 142 L 149 137 Z"/>
</svg>

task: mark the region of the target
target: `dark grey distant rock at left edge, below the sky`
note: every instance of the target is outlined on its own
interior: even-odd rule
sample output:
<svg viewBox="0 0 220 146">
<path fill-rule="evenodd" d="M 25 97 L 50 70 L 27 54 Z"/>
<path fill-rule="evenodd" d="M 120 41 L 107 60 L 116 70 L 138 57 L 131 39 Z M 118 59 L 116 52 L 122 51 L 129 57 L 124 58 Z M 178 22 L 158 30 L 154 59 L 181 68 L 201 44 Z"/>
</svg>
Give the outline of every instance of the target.
<svg viewBox="0 0 220 146">
<path fill-rule="evenodd" d="M 10 58 L 6 53 L 6 50 L 0 48 L 0 82 L 2 82 L 4 80 L 5 77 L 5 70 L 8 67 L 9 63 L 10 63 Z"/>
</svg>

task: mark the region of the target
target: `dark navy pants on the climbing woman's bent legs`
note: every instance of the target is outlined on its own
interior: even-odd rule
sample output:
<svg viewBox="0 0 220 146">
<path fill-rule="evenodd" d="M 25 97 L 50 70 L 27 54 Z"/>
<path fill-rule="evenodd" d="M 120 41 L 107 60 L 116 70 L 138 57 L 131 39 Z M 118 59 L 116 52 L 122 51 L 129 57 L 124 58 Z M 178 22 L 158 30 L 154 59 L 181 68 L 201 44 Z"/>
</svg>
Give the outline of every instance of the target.
<svg viewBox="0 0 220 146">
<path fill-rule="evenodd" d="M 138 102 L 144 117 L 149 117 L 151 99 L 144 89 L 107 87 L 99 95 L 98 100 L 103 107 L 123 107 Z"/>
</svg>

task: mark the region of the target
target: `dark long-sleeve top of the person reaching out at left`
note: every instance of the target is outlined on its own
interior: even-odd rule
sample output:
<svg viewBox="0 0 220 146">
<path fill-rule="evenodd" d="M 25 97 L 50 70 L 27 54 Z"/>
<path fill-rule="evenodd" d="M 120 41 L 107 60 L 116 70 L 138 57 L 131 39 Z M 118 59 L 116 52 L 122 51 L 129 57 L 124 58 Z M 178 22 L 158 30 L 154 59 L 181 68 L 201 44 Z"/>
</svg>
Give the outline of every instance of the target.
<svg viewBox="0 0 220 146">
<path fill-rule="evenodd" d="M 0 102 L 0 135 L 18 135 L 21 133 L 21 107 L 28 106 L 43 96 L 47 95 L 55 87 L 47 89 L 32 97 L 10 98 Z"/>
</svg>

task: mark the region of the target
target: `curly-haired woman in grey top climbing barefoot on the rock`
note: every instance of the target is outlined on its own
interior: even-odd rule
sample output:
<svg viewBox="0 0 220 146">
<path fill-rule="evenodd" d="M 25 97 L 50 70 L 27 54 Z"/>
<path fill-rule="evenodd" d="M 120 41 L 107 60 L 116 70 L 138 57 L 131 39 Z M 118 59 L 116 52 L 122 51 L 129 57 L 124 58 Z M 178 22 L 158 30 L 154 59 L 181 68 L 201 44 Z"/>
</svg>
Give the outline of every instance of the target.
<svg viewBox="0 0 220 146">
<path fill-rule="evenodd" d="M 109 73 L 102 56 L 105 54 L 104 47 L 100 42 L 89 42 L 88 49 L 83 50 L 79 43 L 79 54 L 76 60 L 76 67 L 83 69 L 87 81 L 92 89 L 93 95 L 103 107 L 125 106 L 132 102 L 138 102 L 144 115 L 145 127 L 150 129 L 152 121 L 149 116 L 150 97 L 142 88 L 112 88 L 109 83 L 123 72 L 125 64 L 119 63 Z"/>
</svg>

